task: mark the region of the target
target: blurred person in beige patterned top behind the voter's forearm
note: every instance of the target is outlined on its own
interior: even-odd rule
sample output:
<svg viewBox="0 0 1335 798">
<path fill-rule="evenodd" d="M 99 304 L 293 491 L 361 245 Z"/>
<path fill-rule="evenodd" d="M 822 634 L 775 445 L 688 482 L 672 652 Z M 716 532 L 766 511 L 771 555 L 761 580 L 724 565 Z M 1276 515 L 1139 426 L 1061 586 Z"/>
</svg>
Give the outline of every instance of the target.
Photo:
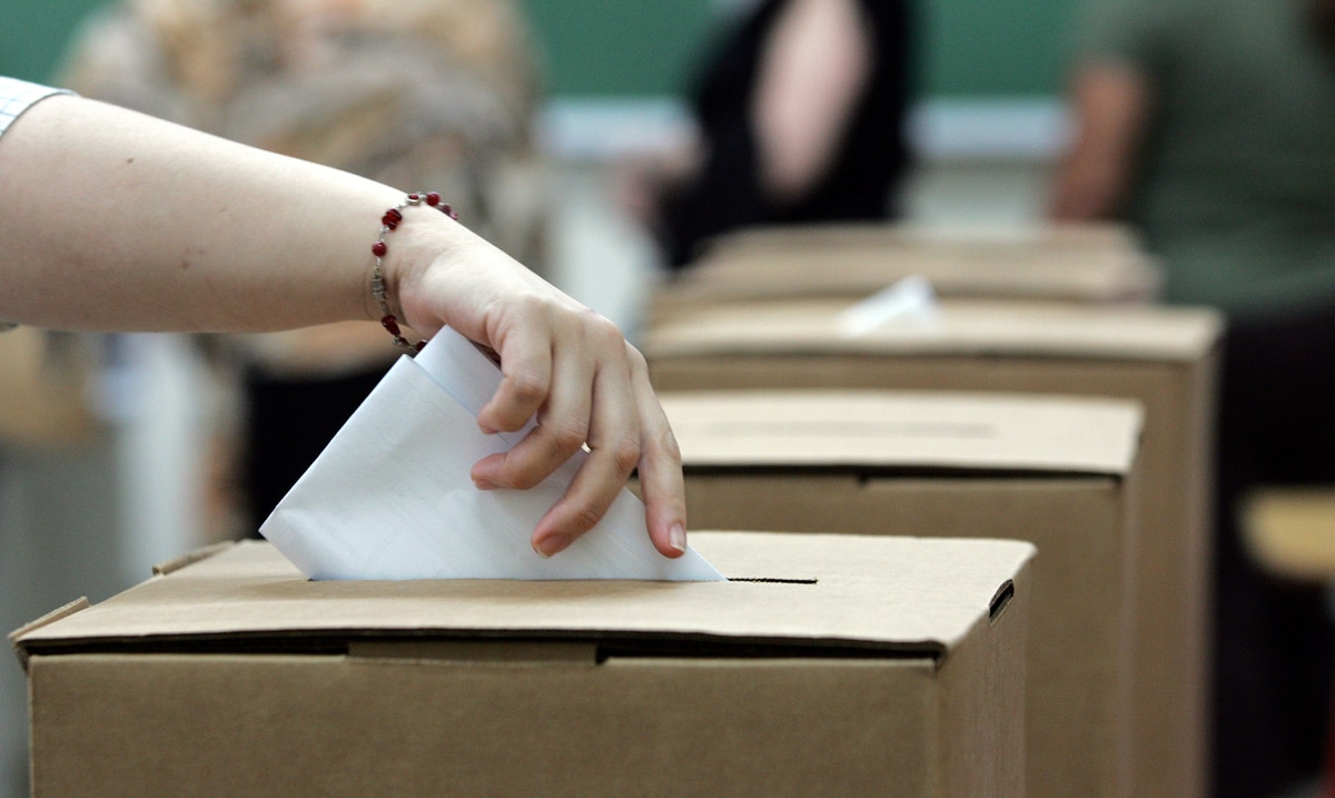
<svg viewBox="0 0 1335 798">
<path fill-rule="evenodd" d="M 382 183 L 431 185 L 541 271 L 533 53 L 511 0 L 124 0 L 85 23 L 60 84 Z M 243 364 L 240 531 L 255 535 L 396 352 L 358 323 L 228 343 Z"/>
</svg>

